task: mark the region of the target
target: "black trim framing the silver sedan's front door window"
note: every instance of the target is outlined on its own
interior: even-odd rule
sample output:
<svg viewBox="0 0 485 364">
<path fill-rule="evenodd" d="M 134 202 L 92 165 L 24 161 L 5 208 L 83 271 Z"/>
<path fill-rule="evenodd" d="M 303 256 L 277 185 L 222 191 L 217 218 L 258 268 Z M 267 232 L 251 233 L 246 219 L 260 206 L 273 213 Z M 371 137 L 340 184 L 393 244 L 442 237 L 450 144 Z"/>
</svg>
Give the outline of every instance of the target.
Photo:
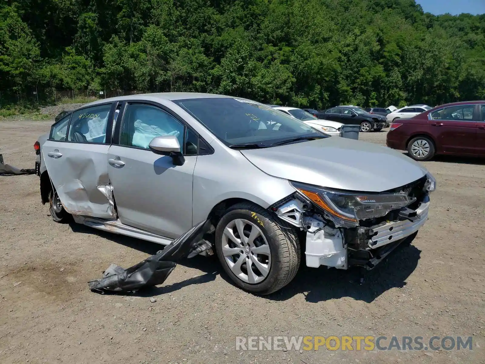
<svg viewBox="0 0 485 364">
<path fill-rule="evenodd" d="M 120 115 L 118 115 L 118 117 L 116 118 L 116 123 L 115 123 L 115 126 L 114 126 L 114 131 L 113 131 L 113 140 L 112 140 L 112 144 L 113 146 L 118 146 L 118 147 L 124 147 L 124 148 L 133 148 L 133 149 L 140 149 L 140 150 L 146 150 L 146 151 L 149 151 L 150 153 L 153 153 L 150 149 L 146 149 L 146 148 L 140 148 L 140 147 L 133 147 L 133 146 L 127 146 L 127 145 L 123 145 L 123 144 L 120 144 L 120 138 L 121 138 L 121 127 L 124 125 L 125 123 L 125 115 L 126 115 L 126 110 L 128 109 L 128 106 L 130 104 L 143 104 L 143 105 L 150 105 L 150 106 L 155 106 L 157 108 L 160 108 L 162 111 L 164 111 L 165 113 L 167 113 L 168 115 L 174 117 L 177 121 L 179 121 L 183 127 L 184 127 L 184 132 L 183 132 L 183 145 L 181 146 L 181 149 L 183 150 L 183 156 L 187 156 L 187 157 L 196 157 L 198 155 L 208 155 L 208 154 L 213 154 L 214 153 L 214 149 L 210 146 L 210 144 L 198 133 L 194 130 L 194 128 L 192 128 L 182 117 L 180 117 L 178 114 L 174 113 L 172 110 L 170 110 L 168 107 L 166 107 L 165 105 L 162 105 L 161 103 L 159 102 L 155 102 L 155 101 L 149 101 L 149 100 L 138 100 L 138 99 L 135 99 L 135 100 L 132 100 L 132 99 L 129 99 L 129 100 L 120 100 L 119 102 L 125 102 L 125 105 L 122 107 L 122 111 L 120 111 Z M 113 111 L 114 112 L 114 111 Z M 118 122 L 120 121 L 120 122 Z M 186 142 L 186 135 L 187 135 L 187 132 L 186 130 L 187 129 L 190 129 L 197 137 L 198 137 L 198 141 L 197 141 L 197 154 L 189 154 L 187 155 L 185 153 L 185 142 Z M 210 152 L 204 152 L 204 153 L 201 153 L 200 150 L 199 150 L 199 147 L 200 147 L 200 140 L 202 140 L 204 142 L 204 144 L 210 149 Z"/>
</svg>

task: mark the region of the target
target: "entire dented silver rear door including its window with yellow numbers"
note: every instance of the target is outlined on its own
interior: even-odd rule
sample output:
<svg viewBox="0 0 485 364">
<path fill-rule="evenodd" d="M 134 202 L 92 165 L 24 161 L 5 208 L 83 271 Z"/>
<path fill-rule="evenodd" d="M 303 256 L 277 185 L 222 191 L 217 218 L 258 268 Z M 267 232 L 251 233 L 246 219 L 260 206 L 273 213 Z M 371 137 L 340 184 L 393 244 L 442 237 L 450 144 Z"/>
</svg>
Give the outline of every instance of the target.
<svg viewBox="0 0 485 364">
<path fill-rule="evenodd" d="M 72 215 L 116 217 L 108 177 L 112 106 L 101 104 L 74 112 L 67 135 L 57 135 L 54 125 L 42 147 L 50 180 Z"/>
</svg>

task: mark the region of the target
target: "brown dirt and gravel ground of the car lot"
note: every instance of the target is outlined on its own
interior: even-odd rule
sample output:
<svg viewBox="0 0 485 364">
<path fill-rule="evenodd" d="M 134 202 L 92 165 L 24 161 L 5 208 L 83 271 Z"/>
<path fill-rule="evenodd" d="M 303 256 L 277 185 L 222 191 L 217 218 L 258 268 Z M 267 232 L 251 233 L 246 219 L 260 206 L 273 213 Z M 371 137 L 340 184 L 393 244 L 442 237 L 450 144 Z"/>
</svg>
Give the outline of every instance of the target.
<svg viewBox="0 0 485 364">
<path fill-rule="evenodd" d="M 5 163 L 33 168 L 32 145 L 50 124 L 0 121 Z M 379 144 L 385 138 L 361 135 Z M 302 267 L 268 297 L 236 288 L 216 259 L 204 257 L 144 294 L 92 293 L 86 282 L 110 263 L 128 267 L 159 246 L 57 224 L 40 203 L 37 176 L 0 177 L 0 363 L 485 363 L 485 162 L 425 165 L 438 190 L 412 246 L 362 285 L 352 271 Z M 247 335 L 474 341 L 472 351 L 236 351 L 235 336 Z"/>
</svg>

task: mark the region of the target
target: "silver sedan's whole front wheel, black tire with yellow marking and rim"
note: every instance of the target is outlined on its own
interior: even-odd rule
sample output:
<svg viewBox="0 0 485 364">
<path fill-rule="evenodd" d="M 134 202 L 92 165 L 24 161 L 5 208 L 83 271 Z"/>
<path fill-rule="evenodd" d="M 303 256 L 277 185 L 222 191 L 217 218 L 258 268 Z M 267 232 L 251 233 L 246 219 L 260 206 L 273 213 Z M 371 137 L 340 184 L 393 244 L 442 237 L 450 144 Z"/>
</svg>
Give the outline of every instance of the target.
<svg viewBox="0 0 485 364">
<path fill-rule="evenodd" d="M 294 229 L 258 205 L 231 206 L 215 231 L 217 257 L 242 289 L 268 295 L 291 282 L 300 265 Z"/>
</svg>

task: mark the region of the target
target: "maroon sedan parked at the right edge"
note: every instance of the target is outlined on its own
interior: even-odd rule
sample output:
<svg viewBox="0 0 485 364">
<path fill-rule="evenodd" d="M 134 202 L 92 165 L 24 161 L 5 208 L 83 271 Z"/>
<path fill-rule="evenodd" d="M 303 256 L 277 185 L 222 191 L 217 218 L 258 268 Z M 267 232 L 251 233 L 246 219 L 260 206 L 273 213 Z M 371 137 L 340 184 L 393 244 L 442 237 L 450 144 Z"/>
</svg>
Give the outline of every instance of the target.
<svg viewBox="0 0 485 364">
<path fill-rule="evenodd" d="M 435 154 L 485 156 L 485 101 L 445 104 L 397 121 L 386 144 L 417 161 Z"/>
</svg>

